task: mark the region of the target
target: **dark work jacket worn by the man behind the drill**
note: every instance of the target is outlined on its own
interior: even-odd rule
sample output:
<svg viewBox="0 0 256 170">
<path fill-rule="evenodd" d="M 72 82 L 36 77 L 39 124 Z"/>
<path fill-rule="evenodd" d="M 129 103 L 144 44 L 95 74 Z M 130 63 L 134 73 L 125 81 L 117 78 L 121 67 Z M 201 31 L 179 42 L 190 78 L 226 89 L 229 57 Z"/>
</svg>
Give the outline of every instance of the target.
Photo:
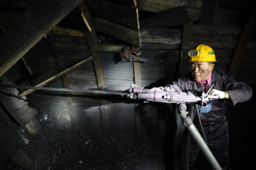
<svg viewBox="0 0 256 170">
<path fill-rule="evenodd" d="M 212 71 L 211 85 L 214 85 L 213 89 L 226 91 L 229 94 L 230 99 L 218 99 L 212 101 L 213 106 L 211 111 L 202 113 L 205 123 L 212 123 L 225 116 L 225 100 L 230 100 L 233 105 L 236 105 L 237 103 L 248 101 L 249 98 L 252 97 L 252 88 L 250 88 L 249 85 L 234 80 L 233 77 L 228 76 L 224 72 Z M 173 85 L 165 86 L 165 89 L 172 90 L 174 88 L 181 91 L 197 91 L 197 93 L 202 93 L 203 91 L 207 91 L 210 86 L 208 85 L 203 89 L 203 87 L 195 82 L 192 77 L 183 77 L 178 79 L 177 82 L 173 82 Z"/>
</svg>

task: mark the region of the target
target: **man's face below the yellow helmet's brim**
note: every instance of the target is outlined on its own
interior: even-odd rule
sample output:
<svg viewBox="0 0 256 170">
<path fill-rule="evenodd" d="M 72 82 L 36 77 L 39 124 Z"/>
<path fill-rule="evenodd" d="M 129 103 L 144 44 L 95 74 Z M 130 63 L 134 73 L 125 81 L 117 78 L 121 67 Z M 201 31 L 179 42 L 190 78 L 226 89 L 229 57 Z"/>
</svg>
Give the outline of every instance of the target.
<svg viewBox="0 0 256 170">
<path fill-rule="evenodd" d="M 214 69 L 214 63 L 194 62 L 191 63 L 192 77 L 195 81 L 206 80 L 210 72 Z"/>
</svg>

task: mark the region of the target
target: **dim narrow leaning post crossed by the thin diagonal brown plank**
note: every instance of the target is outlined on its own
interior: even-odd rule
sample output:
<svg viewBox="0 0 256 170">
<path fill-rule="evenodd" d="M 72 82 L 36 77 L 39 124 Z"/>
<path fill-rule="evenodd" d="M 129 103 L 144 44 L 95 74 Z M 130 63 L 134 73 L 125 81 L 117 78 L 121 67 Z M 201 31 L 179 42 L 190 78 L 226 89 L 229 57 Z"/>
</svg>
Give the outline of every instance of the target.
<svg viewBox="0 0 256 170">
<path fill-rule="evenodd" d="M 47 38 L 46 39 L 46 42 L 48 43 L 49 47 L 50 47 L 50 50 L 52 50 L 52 53 L 53 53 L 53 57 L 55 58 L 55 61 L 56 61 L 56 64 L 59 68 L 59 72 L 62 72 L 64 71 L 65 67 L 64 67 L 64 63 L 61 59 L 61 56 L 59 55 L 58 52 L 56 52 L 56 48 L 54 47 L 54 44 L 53 44 L 53 40 L 50 39 L 50 38 Z M 70 88 L 69 87 L 69 80 L 67 78 L 67 75 L 64 74 L 61 76 L 61 79 L 62 79 L 62 82 L 64 84 L 64 88 Z"/>
</svg>

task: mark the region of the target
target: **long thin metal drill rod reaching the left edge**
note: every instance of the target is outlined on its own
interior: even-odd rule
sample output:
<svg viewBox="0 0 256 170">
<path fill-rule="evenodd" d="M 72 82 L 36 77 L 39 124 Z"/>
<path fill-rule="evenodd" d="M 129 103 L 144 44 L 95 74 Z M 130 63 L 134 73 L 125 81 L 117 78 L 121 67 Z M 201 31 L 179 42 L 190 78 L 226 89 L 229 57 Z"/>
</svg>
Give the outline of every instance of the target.
<svg viewBox="0 0 256 170">
<path fill-rule="evenodd" d="M 75 92 L 75 93 L 93 93 L 93 94 L 107 94 L 107 95 L 118 95 L 125 96 L 127 93 L 121 93 L 118 91 L 107 91 L 107 90 L 76 90 L 69 88 L 49 88 L 49 87 L 35 87 L 29 85 L 0 85 L 0 88 L 23 88 L 23 89 L 35 89 L 35 90 L 48 90 L 48 91 L 59 91 L 59 92 Z"/>
</svg>

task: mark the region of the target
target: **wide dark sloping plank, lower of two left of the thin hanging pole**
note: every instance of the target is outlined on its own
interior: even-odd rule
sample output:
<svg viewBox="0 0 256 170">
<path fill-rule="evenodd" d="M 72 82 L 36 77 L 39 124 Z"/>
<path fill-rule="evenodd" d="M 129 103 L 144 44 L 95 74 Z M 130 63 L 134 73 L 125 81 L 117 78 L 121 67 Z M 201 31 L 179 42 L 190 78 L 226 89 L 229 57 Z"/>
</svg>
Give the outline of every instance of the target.
<svg viewBox="0 0 256 170">
<path fill-rule="evenodd" d="M 97 16 L 93 16 L 92 18 L 97 31 L 108 36 L 113 36 L 123 42 L 128 42 L 135 47 L 140 47 L 138 39 L 139 33 L 137 29 L 128 28 L 127 26 Z"/>
</svg>

